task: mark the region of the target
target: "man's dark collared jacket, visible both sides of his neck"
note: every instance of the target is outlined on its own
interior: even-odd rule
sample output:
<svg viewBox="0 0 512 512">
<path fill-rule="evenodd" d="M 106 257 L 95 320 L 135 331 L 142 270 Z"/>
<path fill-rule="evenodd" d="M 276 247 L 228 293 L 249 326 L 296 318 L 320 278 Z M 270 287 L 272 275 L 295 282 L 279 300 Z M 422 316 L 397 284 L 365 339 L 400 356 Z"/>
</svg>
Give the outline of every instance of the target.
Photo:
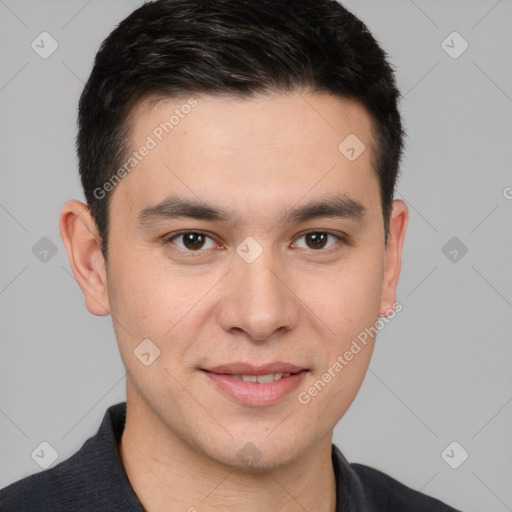
<svg viewBox="0 0 512 512">
<path fill-rule="evenodd" d="M 1 512 L 145 512 L 130 485 L 118 443 L 126 402 L 109 407 L 98 433 L 53 468 L 0 490 Z M 361 464 L 332 445 L 336 512 L 459 512 Z"/>
</svg>

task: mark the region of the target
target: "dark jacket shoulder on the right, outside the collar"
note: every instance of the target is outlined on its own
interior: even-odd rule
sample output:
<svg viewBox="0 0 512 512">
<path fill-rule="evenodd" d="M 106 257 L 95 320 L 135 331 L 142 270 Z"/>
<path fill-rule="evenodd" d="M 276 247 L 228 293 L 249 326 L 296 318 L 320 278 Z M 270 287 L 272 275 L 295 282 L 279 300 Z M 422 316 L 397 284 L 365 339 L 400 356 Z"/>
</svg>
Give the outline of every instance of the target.
<svg viewBox="0 0 512 512">
<path fill-rule="evenodd" d="M 436 498 L 422 494 L 378 469 L 351 463 L 364 489 L 369 510 L 379 512 L 460 512 Z"/>
</svg>

